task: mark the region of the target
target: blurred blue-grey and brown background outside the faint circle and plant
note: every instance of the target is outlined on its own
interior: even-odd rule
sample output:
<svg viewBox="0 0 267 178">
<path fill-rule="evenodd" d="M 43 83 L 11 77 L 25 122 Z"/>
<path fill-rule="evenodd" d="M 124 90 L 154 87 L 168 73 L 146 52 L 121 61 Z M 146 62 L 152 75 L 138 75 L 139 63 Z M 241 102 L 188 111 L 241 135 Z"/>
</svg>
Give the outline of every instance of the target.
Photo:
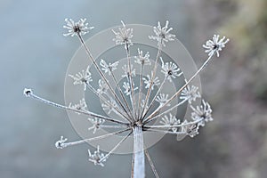
<svg viewBox="0 0 267 178">
<path fill-rule="evenodd" d="M 150 149 L 160 177 L 263 178 L 267 174 L 267 3 L 265 0 L 0 1 L 0 177 L 130 177 L 131 155 L 106 166 L 87 160 L 89 145 L 56 150 L 61 134 L 79 139 L 64 110 L 28 100 L 31 87 L 63 103 L 65 72 L 79 47 L 62 36 L 65 18 L 87 18 L 91 34 L 125 23 L 170 20 L 198 66 L 201 45 L 231 38 L 222 57 L 201 74 L 214 122 L 194 138 L 165 136 Z M 92 148 L 91 148 L 92 149 Z M 150 166 L 147 177 L 153 177 Z"/>
</svg>

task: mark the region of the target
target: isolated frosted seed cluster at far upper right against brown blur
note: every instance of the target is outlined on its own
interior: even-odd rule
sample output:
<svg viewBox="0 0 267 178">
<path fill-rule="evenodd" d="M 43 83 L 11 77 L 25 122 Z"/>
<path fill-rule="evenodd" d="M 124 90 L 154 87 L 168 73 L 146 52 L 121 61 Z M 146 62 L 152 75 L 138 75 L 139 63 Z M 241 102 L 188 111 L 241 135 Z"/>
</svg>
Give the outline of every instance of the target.
<svg viewBox="0 0 267 178">
<path fill-rule="evenodd" d="M 229 42 L 229 39 L 225 39 L 225 36 L 223 36 L 222 39 L 220 39 L 219 35 L 214 35 L 213 40 L 207 40 L 206 44 L 203 44 L 203 47 L 206 48 L 205 53 L 208 53 L 208 56 L 213 55 L 214 53 L 217 54 L 217 57 L 220 56 L 220 51 L 223 50 L 223 47 L 225 47 L 225 44 Z"/>
</svg>

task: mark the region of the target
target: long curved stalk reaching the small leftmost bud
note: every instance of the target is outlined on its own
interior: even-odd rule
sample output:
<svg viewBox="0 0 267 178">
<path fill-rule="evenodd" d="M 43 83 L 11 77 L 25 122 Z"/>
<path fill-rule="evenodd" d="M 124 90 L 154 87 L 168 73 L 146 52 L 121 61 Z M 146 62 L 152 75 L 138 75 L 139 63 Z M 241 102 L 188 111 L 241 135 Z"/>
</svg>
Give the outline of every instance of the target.
<svg viewBox="0 0 267 178">
<path fill-rule="evenodd" d="M 101 118 L 101 119 L 104 119 L 104 120 L 107 120 L 107 121 L 110 121 L 110 122 L 113 122 L 113 123 L 117 123 L 117 124 L 120 124 L 120 125 L 128 125 L 127 123 L 118 121 L 118 120 L 110 118 L 110 117 L 104 117 L 104 116 L 101 116 L 99 114 L 95 114 L 93 112 L 90 112 L 88 110 L 72 109 L 72 108 L 69 108 L 67 106 L 63 106 L 61 104 L 55 103 L 53 101 L 45 100 L 44 98 L 41 98 L 41 97 L 37 96 L 34 93 L 28 93 L 28 97 L 31 97 L 31 98 L 35 99 L 36 101 L 44 102 L 45 104 L 49 104 L 49 105 L 51 105 L 53 107 L 56 107 L 56 108 L 59 108 L 59 109 L 67 109 L 67 110 L 75 111 L 77 113 L 85 114 L 85 115 L 90 116 L 90 117 Z"/>
</svg>

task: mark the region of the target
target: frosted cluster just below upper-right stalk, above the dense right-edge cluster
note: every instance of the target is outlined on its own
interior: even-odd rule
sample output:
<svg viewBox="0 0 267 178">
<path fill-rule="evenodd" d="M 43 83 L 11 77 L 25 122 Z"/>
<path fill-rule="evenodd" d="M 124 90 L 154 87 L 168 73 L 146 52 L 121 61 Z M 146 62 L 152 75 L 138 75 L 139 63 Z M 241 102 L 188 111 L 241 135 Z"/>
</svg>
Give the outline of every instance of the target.
<svg viewBox="0 0 267 178">
<path fill-rule="evenodd" d="M 196 101 L 197 98 L 200 98 L 201 95 L 198 92 L 198 87 L 194 85 L 187 85 L 181 93 L 180 99 L 182 100 L 188 100 L 191 104 L 192 101 Z"/>
</svg>

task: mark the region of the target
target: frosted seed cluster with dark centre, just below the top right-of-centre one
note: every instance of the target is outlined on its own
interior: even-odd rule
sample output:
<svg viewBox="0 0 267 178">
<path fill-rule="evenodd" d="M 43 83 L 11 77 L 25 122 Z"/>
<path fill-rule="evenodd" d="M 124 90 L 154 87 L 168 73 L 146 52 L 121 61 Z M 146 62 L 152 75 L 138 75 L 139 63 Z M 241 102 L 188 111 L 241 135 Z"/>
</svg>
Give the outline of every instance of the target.
<svg viewBox="0 0 267 178">
<path fill-rule="evenodd" d="M 177 67 L 177 65 L 174 62 L 166 62 L 160 58 L 162 62 L 162 70 L 161 72 L 164 73 L 165 77 L 172 82 L 172 78 L 180 77 L 182 75 L 181 70 Z"/>
</svg>

